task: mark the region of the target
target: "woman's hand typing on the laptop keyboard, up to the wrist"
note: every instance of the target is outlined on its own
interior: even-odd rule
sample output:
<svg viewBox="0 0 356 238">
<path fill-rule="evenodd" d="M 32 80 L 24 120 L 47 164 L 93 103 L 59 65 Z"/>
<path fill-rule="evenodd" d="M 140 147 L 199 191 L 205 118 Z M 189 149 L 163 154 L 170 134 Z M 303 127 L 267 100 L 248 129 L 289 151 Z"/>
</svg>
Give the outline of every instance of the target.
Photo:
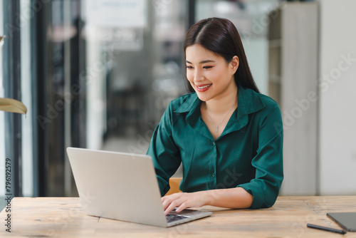
<svg viewBox="0 0 356 238">
<path fill-rule="evenodd" d="M 177 192 L 172 195 L 162 197 L 164 214 L 172 212 L 177 207 L 176 212 L 182 212 L 187 207 L 202 207 L 207 202 L 206 191 L 201 192 Z"/>
</svg>

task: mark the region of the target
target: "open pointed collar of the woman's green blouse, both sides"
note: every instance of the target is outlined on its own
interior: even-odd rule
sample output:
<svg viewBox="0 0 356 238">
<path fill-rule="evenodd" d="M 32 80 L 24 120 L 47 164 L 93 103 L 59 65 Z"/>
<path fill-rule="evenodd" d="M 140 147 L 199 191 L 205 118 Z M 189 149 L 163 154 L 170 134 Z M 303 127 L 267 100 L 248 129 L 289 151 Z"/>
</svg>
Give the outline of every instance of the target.
<svg viewBox="0 0 356 238">
<path fill-rule="evenodd" d="M 256 113 L 258 110 L 265 108 L 259 95 L 252 89 L 239 86 L 238 110 L 231 116 L 228 123 L 229 127 L 224 131 L 224 134 L 231 133 L 234 130 L 241 130 L 248 123 L 248 114 Z M 191 93 L 187 100 L 177 110 L 174 110 L 174 113 L 188 113 L 186 120 L 194 128 L 199 123 L 200 104 L 201 100 L 198 98 L 197 93 Z"/>
</svg>

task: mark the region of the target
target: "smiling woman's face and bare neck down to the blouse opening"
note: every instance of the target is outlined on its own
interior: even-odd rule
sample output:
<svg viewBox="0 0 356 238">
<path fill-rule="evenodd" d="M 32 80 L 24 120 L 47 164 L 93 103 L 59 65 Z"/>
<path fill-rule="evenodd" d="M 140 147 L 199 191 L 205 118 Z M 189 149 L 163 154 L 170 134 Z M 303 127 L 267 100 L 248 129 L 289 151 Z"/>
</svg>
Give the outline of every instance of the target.
<svg viewBox="0 0 356 238">
<path fill-rule="evenodd" d="M 227 63 L 223 57 L 206 50 L 200 44 L 187 47 L 186 58 L 187 80 L 199 99 L 205 102 L 201 106 L 201 118 L 216 140 L 226 126 L 225 118 L 231 116 L 232 110 L 237 106 L 234 73 L 239 67 L 239 58 L 234 56 Z M 219 104 L 216 110 L 214 104 Z"/>
</svg>

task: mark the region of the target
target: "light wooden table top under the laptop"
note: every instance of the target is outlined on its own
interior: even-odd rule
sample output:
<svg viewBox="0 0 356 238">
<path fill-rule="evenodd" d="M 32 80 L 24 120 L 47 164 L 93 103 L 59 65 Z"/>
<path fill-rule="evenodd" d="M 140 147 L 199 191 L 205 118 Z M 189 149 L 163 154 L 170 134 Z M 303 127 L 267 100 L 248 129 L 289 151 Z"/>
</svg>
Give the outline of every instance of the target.
<svg viewBox="0 0 356 238">
<path fill-rule="evenodd" d="M 5 207 L 6 209 L 6 207 Z M 356 196 L 278 197 L 268 209 L 211 210 L 211 217 L 161 228 L 83 213 L 78 197 L 15 197 L 11 203 L 11 233 L 6 210 L 0 213 L 0 237 L 356 237 L 307 228 L 307 223 L 340 227 L 327 212 L 356 212 Z"/>
</svg>

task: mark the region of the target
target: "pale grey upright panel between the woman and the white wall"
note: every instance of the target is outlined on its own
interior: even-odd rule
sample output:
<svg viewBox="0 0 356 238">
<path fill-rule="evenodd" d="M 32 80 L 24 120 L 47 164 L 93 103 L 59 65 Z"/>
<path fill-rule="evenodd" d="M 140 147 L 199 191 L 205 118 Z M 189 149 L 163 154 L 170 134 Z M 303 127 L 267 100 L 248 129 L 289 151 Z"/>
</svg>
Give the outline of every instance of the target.
<svg viewBox="0 0 356 238">
<path fill-rule="evenodd" d="M 316 195 L 318 145 L 318 4 L 293 2 L 281 16 L 281 195 Z"/>
</svg>

